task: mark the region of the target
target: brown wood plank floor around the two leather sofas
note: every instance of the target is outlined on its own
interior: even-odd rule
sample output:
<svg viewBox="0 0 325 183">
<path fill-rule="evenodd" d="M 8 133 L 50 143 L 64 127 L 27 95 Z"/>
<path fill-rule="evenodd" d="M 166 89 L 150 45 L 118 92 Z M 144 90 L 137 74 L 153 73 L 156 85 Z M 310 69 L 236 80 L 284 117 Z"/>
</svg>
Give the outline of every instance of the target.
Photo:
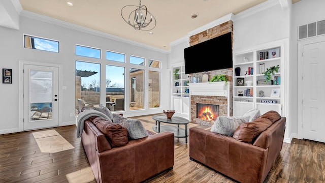
<svg viewBox="0 0 325 183">
<path fill-rule="evenodd" d="M 154 125 L 151 116 L 136 118 L 148 130 Z M 192 126 L 198 125 L 189 125 Z M 43 130 L 0 135 L 0 182 L 95 182 L 91 171 L 90 174 L 83 173 L 90 170 L 90 165 L 81 139 L 76 138 L 76 127 L 51 129 L 56 130 L 75 148 L 53 154 L 41 153 L 32 132 Z M 73 173 L 79 173 L 79 176 L 69 178 Z M 174 169 L 162 172 L 145 182 L 236 181 L 200 163 L 190 161 L 185 139 L 175 138 Z M 325 182 L 325 144 L 298 139 L 293 139 L 291 144 L 283 143 L 281 155 L 265 182 Z"/>
</svg>

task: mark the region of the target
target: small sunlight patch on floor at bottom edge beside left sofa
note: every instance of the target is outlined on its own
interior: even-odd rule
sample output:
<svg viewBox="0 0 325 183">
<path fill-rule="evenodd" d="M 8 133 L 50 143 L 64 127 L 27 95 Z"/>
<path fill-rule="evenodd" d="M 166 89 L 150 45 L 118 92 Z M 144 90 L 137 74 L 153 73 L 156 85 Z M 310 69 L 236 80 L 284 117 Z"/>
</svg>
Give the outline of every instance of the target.
<svg viewBox="0 0 325 183">
<path fill-rule="evenodd" d="M 91 167 L 81 168 L 66 175 L 69 183 L 87 183 L 95 179 Z"/>
</svg>

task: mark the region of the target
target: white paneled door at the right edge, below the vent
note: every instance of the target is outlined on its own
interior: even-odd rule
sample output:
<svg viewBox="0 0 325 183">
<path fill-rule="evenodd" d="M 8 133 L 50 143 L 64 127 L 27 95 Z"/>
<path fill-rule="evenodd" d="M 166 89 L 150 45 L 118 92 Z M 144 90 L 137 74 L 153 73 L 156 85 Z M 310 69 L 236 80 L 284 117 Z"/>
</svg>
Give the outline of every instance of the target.
<svg viewBox="0 0 325 183">
<path fill-rule="evenodd" d="M 303 138 L 325 142 L 325 42 L 303 46 Z"/>
</svg>

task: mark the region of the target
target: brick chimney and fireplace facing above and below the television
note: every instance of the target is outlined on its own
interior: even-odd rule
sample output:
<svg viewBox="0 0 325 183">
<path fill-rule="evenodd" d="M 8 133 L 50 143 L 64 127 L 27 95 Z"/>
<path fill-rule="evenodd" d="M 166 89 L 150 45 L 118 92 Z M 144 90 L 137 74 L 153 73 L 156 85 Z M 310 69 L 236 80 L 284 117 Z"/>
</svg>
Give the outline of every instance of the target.
<svg viewBox="0 0 325 183">
<path fill-rule="evenodd" d="M 224 22 L 220 25 L 217 25 L 215 27 L 209 28 L 206 31 L 203 31 L 199 34 L 193 35 L 189 37 L 189 45 L 193 46 L 198 43 L 202 43 L 204 41 L 216 38 L 218 36 L 224 35 L 226 33 L 233 33 L 233 21 L 228 21 Z M 232 42 L 233 41 L 233 34 L 232 34 Z M 213 70 L 213 71 L 207 71 L 207 72 L 200 72 L 200 73 L 193 73 L 189 74 L 189 80 L 191 81 L 192 77 L 199 78 L 200 82 L 202 82 L 202 76 L 204 74 L 209 75 L 209 80 L 214 76 L 218 74 L 224 74 L 228 77 L 228 84 L 230 84 L 230 116 L 233 115 L 233 68 L 228 68 L 228 69 L 220 69 L 220 70 Z M 198 100 L 198 101 L 196 101 Z M 206 102 L 206 103 L 203 103 Z M 199 118 L 194 117 L 196 115 L 196 110 L 197 110 L 197 103 L 202 103 L 202 104 L 216 104 L 220 105 L 220 115 L 226 116 L 227 115 L 227 98 L 226 97 L 218 97 L 218 96 L 191 96 L 191 123 L 197 123 L 201 125 L 208 125 L 211 126 L 214 121 L 209 122 L 205 121 Z M 219 104 L 220 103 L 220 104 Z"/>
</svg>

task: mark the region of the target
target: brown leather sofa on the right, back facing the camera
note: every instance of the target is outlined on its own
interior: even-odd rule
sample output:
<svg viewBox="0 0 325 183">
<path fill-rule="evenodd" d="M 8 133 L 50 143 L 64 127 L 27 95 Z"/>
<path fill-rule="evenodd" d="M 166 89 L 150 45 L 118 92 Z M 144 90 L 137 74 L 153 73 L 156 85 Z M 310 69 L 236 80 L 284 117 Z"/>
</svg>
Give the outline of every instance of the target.
<svg viewBox="0 0 325 183">
<path fill-rule="evenodd" d="M 192 127 L 189 129 L 189 157 L 239 182 L 263 182 L 280 155 L 285 121 L 285 117 L 279 116 L 251 143 L 233 138 L 238 129 L 231 137 Z"/>
</svg>

